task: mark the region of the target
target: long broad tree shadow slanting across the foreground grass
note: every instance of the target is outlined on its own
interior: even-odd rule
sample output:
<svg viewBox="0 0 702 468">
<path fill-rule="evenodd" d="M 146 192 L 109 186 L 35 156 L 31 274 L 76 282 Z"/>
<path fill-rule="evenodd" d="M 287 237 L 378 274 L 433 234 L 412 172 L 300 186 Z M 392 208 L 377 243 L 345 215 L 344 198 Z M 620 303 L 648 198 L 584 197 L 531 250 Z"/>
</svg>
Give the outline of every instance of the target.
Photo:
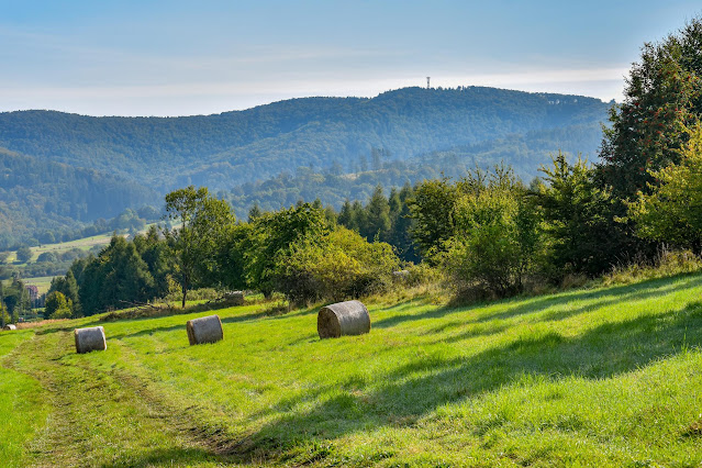
<svg viewBox="0 0 702 468">
<path fill-rule="evenodd" d="M 279 409 L 290 409 L 288 414 L 265 425 L 243 445 L 279 453 L 280 447 L 299 443 L 301 435 L 310 441 L 331 441 L 380 426 L 409 425 L 441 405 L 476 398 L 524 375 L 555 380 L 560 376 L 611 378 L 686 347 L 702 346 L 700 331 L 702 303 L 695 302 L 664 314 L 605 324 L 572 338 L 549 332 L 469 358 L 417 359 L 372 382 L 349 382 L 348 389 L 339 385 L 326 399 L 319 389 L 310 389 L 309 394 L 287 400 Z M 387 383 L 378 388 L 374 385 L 378 381 Z M 293 412 L 298 402 L 315 399 L 323 400 L 311 411 Z"/>
</svg>

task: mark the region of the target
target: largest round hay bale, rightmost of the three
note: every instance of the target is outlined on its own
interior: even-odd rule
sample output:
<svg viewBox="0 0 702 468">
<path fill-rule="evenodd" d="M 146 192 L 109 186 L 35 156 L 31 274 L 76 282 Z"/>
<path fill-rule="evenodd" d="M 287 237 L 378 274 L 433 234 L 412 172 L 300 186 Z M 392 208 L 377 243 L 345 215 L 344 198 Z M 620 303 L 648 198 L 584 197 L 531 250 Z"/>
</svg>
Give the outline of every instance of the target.
<svg viewBox="0 0 702 468">
<path fill-rule="evenodd" d="M 370 315 L 360 301 L 346 301 L 320 309 L 316 316 L 320 338 L 338 338 L 370 332 Z"/>
</svg>

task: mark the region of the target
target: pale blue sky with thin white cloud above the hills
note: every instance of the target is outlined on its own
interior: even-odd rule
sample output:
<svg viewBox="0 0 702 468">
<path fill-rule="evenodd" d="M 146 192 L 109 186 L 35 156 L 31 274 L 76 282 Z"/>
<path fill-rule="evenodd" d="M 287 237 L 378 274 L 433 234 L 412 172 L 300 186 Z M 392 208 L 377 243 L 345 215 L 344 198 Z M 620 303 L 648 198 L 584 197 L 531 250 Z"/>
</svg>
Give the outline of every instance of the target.
<svg viewBox="0 0 702 468">
<path fill-rule="evenodd" d="M 621 100 L 677 0 L 0 0 L 0 112 L 194 115 L 408 86 Z"/>
</svg>

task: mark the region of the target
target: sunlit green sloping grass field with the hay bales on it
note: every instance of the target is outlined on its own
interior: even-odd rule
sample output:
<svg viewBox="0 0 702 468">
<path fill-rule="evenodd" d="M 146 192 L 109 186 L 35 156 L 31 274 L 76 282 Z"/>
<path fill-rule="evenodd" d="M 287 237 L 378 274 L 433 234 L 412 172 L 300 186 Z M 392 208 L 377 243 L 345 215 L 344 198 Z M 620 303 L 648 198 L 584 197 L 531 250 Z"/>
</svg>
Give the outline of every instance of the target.
<svg viewBox="0 0 702 468">
<path fill-rule="evenodd" d="M 370 334 L 326 341 L 316 309 L 265 305 L 219 311 L 225 339 L 192 347 L 185 323 L 207 312 L 4 332 L 3 364 L 51 409 L 10 459 L 699 466 L 701 294 L 688 275 L 465 308 L 371 304 Z M 76 355 L 73 327 L 96 324 L 108 350 Z"/>
</svg>

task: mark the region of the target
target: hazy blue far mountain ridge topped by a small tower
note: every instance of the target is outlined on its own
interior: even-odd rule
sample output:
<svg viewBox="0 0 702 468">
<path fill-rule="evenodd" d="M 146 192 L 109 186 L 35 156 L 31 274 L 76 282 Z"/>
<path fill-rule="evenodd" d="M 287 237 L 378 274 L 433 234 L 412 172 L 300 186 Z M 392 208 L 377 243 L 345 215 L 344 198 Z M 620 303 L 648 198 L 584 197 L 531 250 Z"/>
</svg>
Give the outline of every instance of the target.
<svg viewBox="0 0 702 468">
<path fill-rule="evenodd" d="M 147 182 L 229 189 L 297 167 L 345 171 L 371 148 L 393 159 L 605 119 L 593 98 L 493 88 L 405 88 L 372 99 L 304 98 L 185 118 L 0 114 L 0 146 Z M 587 151 L 588 148 L 583 148 Z"/>
</svg>

